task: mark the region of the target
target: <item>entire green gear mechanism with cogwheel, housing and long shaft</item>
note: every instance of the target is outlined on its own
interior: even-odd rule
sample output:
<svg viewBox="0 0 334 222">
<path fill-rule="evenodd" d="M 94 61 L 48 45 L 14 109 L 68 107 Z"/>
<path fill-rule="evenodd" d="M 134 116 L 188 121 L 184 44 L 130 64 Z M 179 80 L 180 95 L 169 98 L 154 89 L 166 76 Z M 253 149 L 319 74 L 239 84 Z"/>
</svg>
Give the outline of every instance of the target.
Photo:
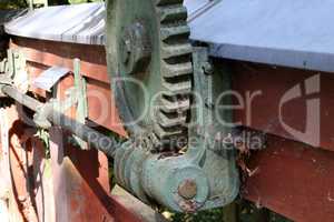
<svg viewBox="0 0 334 222">
<path fill-rule="evenodd" d="M 40 103 L 14 81 L 0 82 L 0 91 L 36 111 L 37 127 L 60 125 L 112 157 L 118 184 L 144 202 L 179 212 L 226 205 L 239 188 L 234 144 L 226 143 L 233 129 L 219 121 L 232 122 L 232 110 L 220 109 L 230 102 L 223 93 L 230 77 L 212 65 L 206 48 L 193 51 L 186 20 L 181 0 L 107 1 L 111 89 L 129 131 L 121 144 L 55 109 L 61 101 Z M 183 135 L 186 149 L 167 152 Z"/>
</svg>

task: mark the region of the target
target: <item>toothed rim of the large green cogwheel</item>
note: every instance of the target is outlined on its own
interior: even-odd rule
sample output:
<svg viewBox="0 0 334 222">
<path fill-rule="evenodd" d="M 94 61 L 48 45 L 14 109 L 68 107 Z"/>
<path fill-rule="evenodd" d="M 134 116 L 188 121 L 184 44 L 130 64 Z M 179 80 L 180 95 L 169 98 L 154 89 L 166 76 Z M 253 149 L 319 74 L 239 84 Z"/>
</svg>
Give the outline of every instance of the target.
<svg viewBox="0 0 334 222">
<path fill-rule="evenodd" d="M 120 4 L 125 3 L 121 0 L 117 2 Z M 159 108 L 154 109 L 158 121 L 145 119 L 145 122 L 140 122 L 140 125 L 125 125 L 125 128 L 129 130 L 130 138 L 132 139 L 136 138 L 135 133 L 137 131 L 147 130 L 147 134 L 144 135 L 143 145 L 149 148 L 151 151 L 159 152 L 166 149 L 177 151 L 179 147 L 171 142 L 174 139 L 187 135 L 188 132 L 186 124 L 189 120 L 188 114 L 190 109 L 193 48 L 189 42 L 190 30 L 187 26 L 187 9 L 183 6 L 183 2 L 184 0 L 153 0 L 145 2 L 155 8 L 157 18 L 151 19 L 155 19 L 154 23 L 157 23 L 156 28 L 159 29 L 158 33 L 153 34 L 154 43 L 158 40 L 157 47 L 159 48 L 159 50 L 154 51 L 153 57 L 160 58 L 158 61 L 159 64 L 157 64 L 160 65 L 160 73 L 158 73 L 160 82 L 158 83 L 158 88 L 153 88 L 154 92 L 161 92 L 161 97 L 156 101 Z M 127 23 L 125 22 L 125 24 Z M 111 30 L 115 29 L 114 31 L 119 33 L 121 32 L 121 27 L 117 26 Z M 109 31 L 108 34 L 112 32 Z M 107 39 L 109 40 L 110 38 Z M 112 50 L 109 48 L 110 46 L 107 47 L 108 62 L 114 61 L 109 57 L 110 54 L 115 54 L 112 53 L 114 48 L 117 47 L 112 47 Z M 147 69 L 148 74 L 155 74 L 155 71 L 154 69 Z M 148 87 L 150 87 L 150 83 L 148 83 Z M 119 88 L 118 90 L 122 89 Z M 124 95 L 122 93 L 120 94 Z M 124 102 L 126 99 L 120 95 L 117 98 L 117 101 L 121 101 L 120 104 L 126 103 Z M 126 104 L 124 107 L 130 105 Z M 120 118 L 125 120 L 126 117 L 134 114 L 130 111 L 124 112 L 124 115 L 121 113 Z"/>
</svg>

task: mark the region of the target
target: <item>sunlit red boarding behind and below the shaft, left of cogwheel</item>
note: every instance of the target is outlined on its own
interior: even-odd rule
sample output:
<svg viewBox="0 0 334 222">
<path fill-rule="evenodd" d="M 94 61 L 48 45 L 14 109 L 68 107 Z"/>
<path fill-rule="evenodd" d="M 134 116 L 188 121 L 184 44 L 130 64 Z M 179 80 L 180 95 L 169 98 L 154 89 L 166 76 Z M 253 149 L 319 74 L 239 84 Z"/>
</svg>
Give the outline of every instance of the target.
<svg viewBox="0 0 334 222">
<path fill-rule="evenodd" d="M 27 40 L 27 42 L 20 42 L 20 43 L 27 43 L 30 46 L 30 43 L 33 46 L 35 42 L 32 40 Z M 14 43 L 11 44 L 12 47 Z M 81 70 L 87 71 L 86 77 L 89 77 L 91 74 L 92 78 L 88 79 L 88 103 L 92 104 L 94 107 L 90 108 L 89 113 L 92 113 L 92 121 L 96 121 L 98 124 L 102 124 L 104 127 L 110 127 L 109 129 L 115 130 L 116 132 L 122 133 L 122 127 L 121 124 L 115 124 L 118 125 L 118 129 L 111 128 L 111 122 L 108 121 L 115 121 L 120 122 L 118 119 L 117 111 L 112 108 L 112 101 L 111 95 L 109 93 L 109 84 L 107 80 L 107 73 L 106 73 L 106 65 L 101 64 L 104 63 L 105 59 L 99 60 L 101 57 L 98 49 L 87 49 L 95 50 L 91 54 L 97 53 L 92 56 L 91 58 L 86 57 L 89 53 L 86 53 L 85 50 L 82 52 L 82 46 L 80 47 L 72 47 L 67 44 L 61 46 L 49 46 L 49 44 L 38 44 L 39 50 L 32 49 L 32 52 L 30 56 L 32 59 L 30 60 L 28 57 L 28 72 L 30 74 L 30 80 L 38 77 L 41 71 L 48 69 L 50 65 L 66 65 L 68 68 L 71 68 L 72 65 L 72 58 L 77 58 L 77 56 L 80 56 L 79 58 L 84 59 L 91 59 L 89 61 L 82 61 L 81 62 Z M 50 47 L 50 48 L 48 48 Z M 51 49 L 58 49 L 62 50 L 60 54 L 53 54 L 56 53 L 47 51 Z M 81 49 L 81 51 L 76 51 Z M 28 49 L 28 48 L 24 48 Z M 30 50 L 30 49 L 29 49 Z M 28 50 L 28 52 L 29 52 Z M 36 51 L 33 51 L 36 50 Z M 73 50 L 73 51 L 71 51 Z M 47 51 L 47 52 L 46 52 Z M 69 58 L 63 58 L 62 56 L 67 54 Z M 28 54 L 29 56 L 29 54 Z M 104 57 L 102 57 L 104 58 Z M 55 59 L 55 61 L 53 61 Z M 100 63 L 98 63 L 100 62 Z M 100 77 L 99 74 L 102 74 Z M 100 78 L 100 79 L 99 79 Z M 104 79 L 105 78 L 105 79 Z M 99 79 L 101 81 L 97 81 L 94 79 Z M 94 82 L 91 84 L 91 81 Z M 105 81 L 105 82 L 104 82 Z M 67 89 L 73 85 L 73 77 L 72 74 L 67 75 L 66 78 L 62 78 L 61 81 L 58 84 L 58 92 L 59 98 L 63 99 L 65 92 Z M 92 85 L 92 87 L 90 87 Z M 47 97 L 47 93 L 45 91 L 32 89 L 33 92 L 38 93 L 41 97 Z M 101 91 L 106 99 L 108 100 L 106 104 L 109 104 L 109 107 L 104 107 L 101 109 L 107 110 L 107 118 L 105 122 L 100 122 L 97 120 L 99 113 L 97 113 L 96 109 L 98 105 L 102 105 L 97 103 L 97 98 L 94 97 L 94 93 L 91 91 Z M 13 107 L 16 110 L 17 108 Z M 21 111 L 21 110 L 20 110 Z M 75 109 L 69 110 L 67 113 L 70 117 L 75 117 Z M 110 113 L 112 111 L 112 113 Z M 114 118 L 109 118 L 112 114 Z M 18 117 L 14 115 L 13 121 L 18 121 Z M 10 129 L 10 132 L 13 133 L 13 135 L 19 134 L 20 137 L 29 138 L 32 137 L 33 133 L 28 134 L 26 132 L 26 128 L 28 125 L 22 124 L 20 125 L 12 125 Z M 29 128 L 28 128 L 29 129 Z M 22 131 L 22 132 L 21 132 Z M 45 150 L 43 147 L 40 144 L 39 149 L 36 148 L 36 145 L 28 147 L 28 143 L 26 144 L 24 149 L 22 149 L 21 141 L 22 138 L 16 139 L 14 141 L 18 141 L 13 147 L 16 149 L 12 149 L 13 154 L 11 157 L 14 157 L 13 162 L 11 163 L 14 168 L 14 172 L 12 174 L 12 181 L 13 181 L 13 191 L 16 193 L 13 203 L 17 205 L 18 216 L 21 216 L 18 219 L 18 221 L 37 221 L 37 220 L 46 220 L 47 221 L 139 221 L 139 219 L 129 210 L 127 210 L 126 206 L 118 203 L 117 200 L 114 200 L 110 198 L 110 188 L 109 188 L 109 169 L 108 169 L 108 159 L 102 154 L 101 152 L 97 152 L 95 150 L 90 151 L 80 151 L 78 149 L 75 149 L 70 147 L 67 142 L 67 138 L 63 135 L 61 131 L 58 129 L 53 129 L 51 132 L 51 160 L 48 161 L 45 159 Z M 17 137 L 14 137 L 17 138 Z M 27 140 L 27 139 L 24 139 Z M 29 144 L 32 144 L 31 142 Z M 29 152 L 28 149 L 29 148 Z M 39 152 L 42 151 L 42 152 Z M 30 154 L 32 153 L 32 154 Z M 39 158 L 36 158 L 39 153 Z M 26 161 L 27 159 L 27 161 Z M 29 164 L 26 164 L 26 162 Z M 30 172 L 28 169 L 40 169 L 39 163 L 42 162 L 50 162 L 50 165 L 48 169 L 51 171 L 48 173 L 48 178 L 45 180 L 39 180 L 38 176 L 35 176 L 35 174 L 27 172 Z M 23 163 L 21 163 L 23 162 Z M 17 168 L 18 165 L 18 168 Z M 35 170 L 32 170 L 35 172 Z M 43 171 L 47 172 L 47 171 Z M 45 185 L 42 188 L 48 188 L 48 190 L 39 189 L 39 192 L 36 191 L 36 195 L 33 198 L 27 199 L 26 196 L 30 196 L 31 194 L 31 185 L 29 183 L 32 182 L 33 184 L 42 182 Z M 48 184 L 48 185 L 47 185 Z M 51 184 L 51 185 L 49 185 Z M 41 186 L 41 185 L 40 185 Z M 35 186 L 33 186 L 35 189 Z M 35 192 L 35 190 L 33 190 Z M 42 196 L 40 195 L 42 193 Z M 23 198 L 22 198 L 23 196 Z M 22 202 L 23 201 L 23 202 Z M 30 204 L 31 203 L 31 204 Z M 46 205 L 40 205 L 40 203 L 43 203 Z M 45 209 L 42 206 L 46 206 Z M 41 210 L 40 210 L 41 209 Z M 122 215 L 117 215 L 115 218 L 116 213 L 122 213 Z M 40 218 L 40 216 L 43 216 Z"/>
</svg>

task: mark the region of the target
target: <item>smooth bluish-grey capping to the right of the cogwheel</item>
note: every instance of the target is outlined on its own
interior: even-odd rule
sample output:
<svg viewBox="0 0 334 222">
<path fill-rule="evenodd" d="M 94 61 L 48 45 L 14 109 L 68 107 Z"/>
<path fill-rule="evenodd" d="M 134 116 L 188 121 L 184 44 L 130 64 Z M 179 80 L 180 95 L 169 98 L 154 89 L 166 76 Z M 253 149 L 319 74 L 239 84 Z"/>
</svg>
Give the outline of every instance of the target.
<svg viewBox="0 0 334 222">
<path fill-rule="evenodd" d="M 215 57 L 333 72 L 333 0 L 223 0 L 189 26 Z"/>
</svg>

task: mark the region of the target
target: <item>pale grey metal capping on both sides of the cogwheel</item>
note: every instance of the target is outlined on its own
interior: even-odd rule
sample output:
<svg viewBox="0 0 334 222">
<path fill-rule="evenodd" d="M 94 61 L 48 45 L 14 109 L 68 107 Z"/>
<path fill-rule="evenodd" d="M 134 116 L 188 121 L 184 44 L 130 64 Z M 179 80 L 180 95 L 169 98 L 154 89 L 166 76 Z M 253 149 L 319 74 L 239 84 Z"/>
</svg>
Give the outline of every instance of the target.
<svg viewBox="0 0 334 222">
<path fill-rule="evenodd" d="M 214 57 L 334 72 L 333 0 L 185 0 L 191 39 Z M 11 34 L 104 44 L 104 3 L 38 9 Z"/>
</svg>

